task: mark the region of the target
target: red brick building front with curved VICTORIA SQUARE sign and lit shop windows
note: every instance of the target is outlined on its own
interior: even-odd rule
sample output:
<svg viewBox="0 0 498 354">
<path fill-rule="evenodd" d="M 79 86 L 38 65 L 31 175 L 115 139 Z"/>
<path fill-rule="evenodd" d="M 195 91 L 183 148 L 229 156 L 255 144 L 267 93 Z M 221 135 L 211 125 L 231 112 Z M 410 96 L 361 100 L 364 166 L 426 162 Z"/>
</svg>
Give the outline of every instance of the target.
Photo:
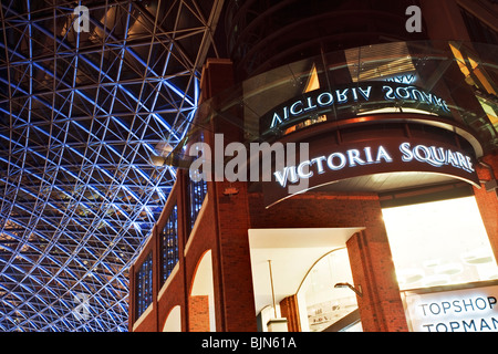
<svg viewBox="0 0 498 354">
<path fill-rule="evenodd" d="M 377 44 L 236 86 L 209 63 L 229 90 L 169 156 L 186 168 L 132 269 L 136 287 L 156 264 L 133 330 L 498 331 L 498 111 L 476 90 L 495 87 L 496 55 Z"/>
</svg>

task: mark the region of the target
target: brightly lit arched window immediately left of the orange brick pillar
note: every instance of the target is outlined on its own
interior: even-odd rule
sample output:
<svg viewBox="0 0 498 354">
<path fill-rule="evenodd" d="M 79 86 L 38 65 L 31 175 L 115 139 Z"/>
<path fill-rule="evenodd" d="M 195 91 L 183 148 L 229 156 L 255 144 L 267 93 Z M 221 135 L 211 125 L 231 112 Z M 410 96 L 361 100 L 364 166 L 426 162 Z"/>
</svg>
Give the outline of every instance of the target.
<svg viewBox="0 0 498 354">
<path fill-rule="evenodd" d="M 320 259 L 308 273 L 299 292 L 298 303 L 303 332 L 323 332 L 346 317 L 338 331 L 361 331 L 356 294 L 334 284 L 353 284 L 346 249 L 332 251 Z M 350 315 L 350 316 L 349 316 Z"/>
</svg>

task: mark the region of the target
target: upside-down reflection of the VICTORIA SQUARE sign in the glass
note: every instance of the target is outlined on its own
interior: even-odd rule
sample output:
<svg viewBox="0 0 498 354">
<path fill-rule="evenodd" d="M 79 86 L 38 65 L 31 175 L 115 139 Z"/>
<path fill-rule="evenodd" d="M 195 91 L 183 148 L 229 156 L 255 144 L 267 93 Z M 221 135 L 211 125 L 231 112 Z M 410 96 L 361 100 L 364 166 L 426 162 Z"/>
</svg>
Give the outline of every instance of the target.
<svg viewBox="0 0 498 354">
<path fill-rule="evenodd" d="M 366 82 L 315 90 L 273 108 L 260 119 L 261 135 L 278 132 L 313 116 L 334 112 L 351 116 L 353 105 L 369 110 L 411 107 L 442 116 L 449 115 L 446 102 L 414 85 L 396 82 Z"/>
</svg>

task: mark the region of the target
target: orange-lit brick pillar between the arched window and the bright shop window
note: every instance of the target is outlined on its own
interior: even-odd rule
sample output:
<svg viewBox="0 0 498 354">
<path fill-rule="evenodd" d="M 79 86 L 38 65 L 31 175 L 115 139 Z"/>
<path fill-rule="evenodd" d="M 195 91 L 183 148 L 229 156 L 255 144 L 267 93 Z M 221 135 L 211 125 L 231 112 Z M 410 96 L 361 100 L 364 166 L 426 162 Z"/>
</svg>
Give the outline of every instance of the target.
<svg viewBox="0 0 498 354">
<path fill-rule="evenodd" d="M 346 246 L 363 331 L 408 331 L 385 228 L 366 228 Z"/>
</svg>

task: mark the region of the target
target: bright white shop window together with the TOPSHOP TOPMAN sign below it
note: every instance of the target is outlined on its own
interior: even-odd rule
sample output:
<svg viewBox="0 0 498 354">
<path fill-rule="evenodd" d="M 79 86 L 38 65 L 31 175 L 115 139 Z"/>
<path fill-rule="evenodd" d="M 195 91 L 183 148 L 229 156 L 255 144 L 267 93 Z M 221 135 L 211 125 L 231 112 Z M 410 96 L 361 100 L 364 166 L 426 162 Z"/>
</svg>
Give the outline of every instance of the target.
<svg viewBox="0 0 498 354">
<path fill-rule="evenodd" d="M 498 267 L 475 198 L 383 215 L 411 330 L 497 332 Z"/>
</svg>

